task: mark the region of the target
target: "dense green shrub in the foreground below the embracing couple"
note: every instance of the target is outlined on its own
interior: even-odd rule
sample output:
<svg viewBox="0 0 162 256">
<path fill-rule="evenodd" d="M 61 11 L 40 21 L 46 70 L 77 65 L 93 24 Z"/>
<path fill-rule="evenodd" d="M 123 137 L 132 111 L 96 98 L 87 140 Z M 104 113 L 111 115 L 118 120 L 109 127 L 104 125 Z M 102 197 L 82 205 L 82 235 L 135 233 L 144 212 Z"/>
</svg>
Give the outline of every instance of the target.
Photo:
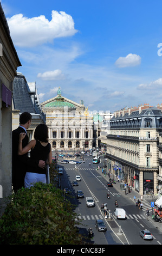
<svg viewBox="0 0 162 256">
<path fill-rule="evenodd" d="M 0 218 L 0 244 L 80 245 L 76 214 L 69 200 L 51 184 L 22 188 L 10 198 Z"/>
</svg>

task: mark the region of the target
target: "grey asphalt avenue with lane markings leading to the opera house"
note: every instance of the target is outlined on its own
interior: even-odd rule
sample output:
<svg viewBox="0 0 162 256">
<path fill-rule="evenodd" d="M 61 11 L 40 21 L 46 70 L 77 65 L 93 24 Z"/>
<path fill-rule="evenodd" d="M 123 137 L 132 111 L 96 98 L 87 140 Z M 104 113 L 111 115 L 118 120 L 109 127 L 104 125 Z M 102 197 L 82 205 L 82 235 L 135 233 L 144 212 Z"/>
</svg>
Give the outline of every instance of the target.
<svg viewBox="0 0 162 256">
<path fill-rule="evenodd" d="M 61 160 L 61 159 L 60 159 Z M 89 162 L 91 163 L 89 166 Z M 59 163 L 59 162 L 58 162 Z M 75 164 L 60 164 L 64 167 L 64 172 L 61 178 L 61 188 L 69 187 L 73 198 L 72 203 L 75 204 L 75 212 L 82 220 L 82 225 L 78 225 L 80 233 L 88 236 L 88 228 L 91 227 L 94 236 L 89 242 L 93 245 L 158 245 L 162 244 L 161 232 L 157 230 L 148 219 L 144 212 L 135 206 L 133 200 L 124 197 L 123 193 L 113 187 L 106 186 L 106 180 L 103 175 L 96 171 L 96 164 L 92 163 L 92 156 L 85 156 L 85 163 L 80 164 L 78 169 L 75 169 Z M 73 186 L 72 182 L 75 180 L 75 175 L 81 176 L 79 186 Z M 76 198 L 76 191 L 82 190 L 85 198 Z M 111 198 L 107 199 L 106 194 L 110 193 Z M 86 197 L 93 197 L 95 206 L 87 208 Z M 114 200 L 118 200 L 119 208 L 126 211 L 126 220 L 117 220 L 114 216 L 115 204 Z M 111 212 L 110 219 L 105 220 L 103 212 L 101 211 L 101 204 L 107 203 L 107 209 Z M 105 222 L 107 231 L 97 231 L 95 228 L 95 220 L 103 220 Z M 151 231 L 153 240 L 142 240 L 139 236 L 141 229 L 148 229 Z M 155 239 L 158 237 L 158 239 Z"/>
</svg>

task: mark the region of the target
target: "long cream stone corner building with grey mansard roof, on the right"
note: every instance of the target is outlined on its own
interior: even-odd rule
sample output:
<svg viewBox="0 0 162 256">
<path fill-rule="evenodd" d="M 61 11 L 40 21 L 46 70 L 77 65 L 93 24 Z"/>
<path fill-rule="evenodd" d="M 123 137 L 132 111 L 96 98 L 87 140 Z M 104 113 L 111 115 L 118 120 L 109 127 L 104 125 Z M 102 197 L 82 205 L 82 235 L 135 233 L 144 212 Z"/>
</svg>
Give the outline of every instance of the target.
<svg viewBox="0 0 162 256">
<path fill-rule="evenodd" d="M 158 193 L 161 180 L 160 105 L 116 111 L 107 134 L 107 169 L 140 194 Z M 160 148 L 161 149 L 161 148 Z"/>
</svg>

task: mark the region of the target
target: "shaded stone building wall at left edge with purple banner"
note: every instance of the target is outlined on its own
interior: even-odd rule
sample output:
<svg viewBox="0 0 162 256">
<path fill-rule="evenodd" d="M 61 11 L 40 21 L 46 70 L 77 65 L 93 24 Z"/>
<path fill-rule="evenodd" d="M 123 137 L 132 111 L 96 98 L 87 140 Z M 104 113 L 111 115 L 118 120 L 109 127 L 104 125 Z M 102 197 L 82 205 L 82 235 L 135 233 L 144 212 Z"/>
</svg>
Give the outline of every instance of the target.
<svg viewBox="0 0 162 256">
<path fill-rule="evenodd" d="M 12 86 L 21 66 L 0 3 L 0 203 L 12 189 Z M 0 208 L 0 215 L 3 212 Z"/>
</svg>

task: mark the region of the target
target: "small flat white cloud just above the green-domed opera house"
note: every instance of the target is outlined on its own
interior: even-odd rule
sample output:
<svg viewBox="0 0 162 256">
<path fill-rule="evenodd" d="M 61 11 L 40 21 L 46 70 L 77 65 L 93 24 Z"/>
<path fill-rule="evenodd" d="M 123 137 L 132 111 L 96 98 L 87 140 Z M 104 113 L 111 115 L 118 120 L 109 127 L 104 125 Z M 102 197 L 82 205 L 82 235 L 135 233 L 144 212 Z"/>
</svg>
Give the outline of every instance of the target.
<svg viewBox="0 0 162 256">
<path fill-rule="evenodd" d="M 65 76 L 62 74 L 60 69 L 53 71 L 46 71 L 43 74 L 38 73 L 37 77 L 42 78 L 42 80 L 64 80 Z"/>
</svg>

